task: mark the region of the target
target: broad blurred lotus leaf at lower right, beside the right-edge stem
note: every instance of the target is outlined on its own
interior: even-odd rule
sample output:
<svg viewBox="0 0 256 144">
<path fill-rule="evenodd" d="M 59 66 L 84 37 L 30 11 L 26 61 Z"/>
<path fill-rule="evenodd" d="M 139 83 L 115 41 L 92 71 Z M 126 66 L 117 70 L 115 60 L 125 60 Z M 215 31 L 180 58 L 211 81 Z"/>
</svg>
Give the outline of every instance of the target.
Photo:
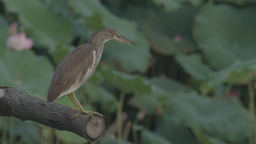
<svg viewBox="0 0 256 144">
<path fill-rule="evenodd" d="M 249 137 L 249 111 L 234 97 L 207 98 L 179 93 L 169 104 L 171 119 L 196 126 L 220 140 L 243 142 Z"/>
</svg>

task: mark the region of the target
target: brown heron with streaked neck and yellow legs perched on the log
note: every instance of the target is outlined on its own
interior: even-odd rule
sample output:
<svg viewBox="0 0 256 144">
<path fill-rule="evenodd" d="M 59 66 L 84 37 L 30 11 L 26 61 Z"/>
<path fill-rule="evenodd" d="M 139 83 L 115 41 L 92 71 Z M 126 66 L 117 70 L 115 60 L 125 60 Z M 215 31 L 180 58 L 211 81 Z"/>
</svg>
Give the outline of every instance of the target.
<svg viewBox="0 0 256 144">
<path fill-rule="evenodd" d="M 53 73 L 47 101 L 53 102 L 68 95 L 75 105 L 72 110 L 78 109 L 81 111 L 75 115 L 75 118 L 81 114 L 88 114 L 93 119 L 93 115 L 103 117 L 98 112 L 84 110 L 76 98 L 75 91 L 93 75 L 99 64 L 104 43 L 109 40 L 136 45 L 136 43 L 120 35 L 112 28 L 103 28 L 96 31 L 91 35 L 87 43 L 78 46 L 61 60 Z"/>
</svg>

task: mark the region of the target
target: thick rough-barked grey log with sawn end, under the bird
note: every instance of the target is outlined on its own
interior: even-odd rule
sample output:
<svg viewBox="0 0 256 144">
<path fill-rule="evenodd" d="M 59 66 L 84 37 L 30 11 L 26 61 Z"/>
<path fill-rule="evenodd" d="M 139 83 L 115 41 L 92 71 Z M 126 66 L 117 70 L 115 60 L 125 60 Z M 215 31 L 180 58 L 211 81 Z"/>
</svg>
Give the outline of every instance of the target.
<svg viewBox="0 0 256 144">
<path fill-rule="evenodd" d="M 31 96 L 11 87 L 0 86 L 0 116 L 13 116 L 22 121 L 34 121 L 58 130 L 78 134 L 87 140 L 98 141 L 105 133 L 105 120 L 100 116 L 78 114 L 78 110 L 42 98 Z"/>
</svg>

